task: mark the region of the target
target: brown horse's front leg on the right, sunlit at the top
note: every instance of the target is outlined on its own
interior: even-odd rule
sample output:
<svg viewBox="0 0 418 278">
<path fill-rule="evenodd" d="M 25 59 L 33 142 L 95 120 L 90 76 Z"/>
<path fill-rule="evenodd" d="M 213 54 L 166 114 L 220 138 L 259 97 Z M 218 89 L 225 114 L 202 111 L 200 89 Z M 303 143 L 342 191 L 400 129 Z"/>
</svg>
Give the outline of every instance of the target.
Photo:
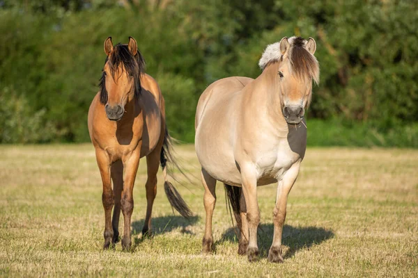
<svg viewBox="0 0 418 278">
<path fill-rule="evenodd" d="M 123 214 L 123 238 L 122 249 L 129 251 L 131 247 L 130 225 L 132 211 L 134 211 L 134 182 L 137 177 L 139 166 L 141 144 L 132 153 L 123 159 L 123 167 L 125 169 L 125 177 L 123 177 L 123 190 L 121 197 L 121 208 Z"/>
</svg>

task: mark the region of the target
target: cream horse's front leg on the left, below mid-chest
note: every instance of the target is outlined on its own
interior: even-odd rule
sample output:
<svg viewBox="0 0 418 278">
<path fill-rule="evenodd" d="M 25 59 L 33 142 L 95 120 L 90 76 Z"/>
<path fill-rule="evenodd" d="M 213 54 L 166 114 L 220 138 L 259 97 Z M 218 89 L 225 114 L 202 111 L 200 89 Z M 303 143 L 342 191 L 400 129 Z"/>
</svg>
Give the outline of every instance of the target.
<svg viewBox="0 0 418 278">
<path fill-rule="evenodd" d="M 249 231 L 249 243 L 247 256 L 249 261 L 255 261 L 258 256 L 257 228 L 260 223 L 260 210 L 257 201 L 257 174 L 256 167 L 251 165 L 241 166 L 242 193 L 244 193 L 247 206 L 247 223 Z"/>
</svg>

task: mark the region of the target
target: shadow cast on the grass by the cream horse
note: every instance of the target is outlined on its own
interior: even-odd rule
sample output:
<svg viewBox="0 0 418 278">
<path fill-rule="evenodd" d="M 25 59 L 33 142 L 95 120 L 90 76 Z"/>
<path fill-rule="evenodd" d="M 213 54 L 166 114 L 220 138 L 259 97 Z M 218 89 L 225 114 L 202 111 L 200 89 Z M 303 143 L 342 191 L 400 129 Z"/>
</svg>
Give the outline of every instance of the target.
<svg viewBox="0 0 418 278">
<path fill-rule="evenodd" d="M 236 228 L 235 228 L 236 229 Z M 222 238 L 215 243 L 218 245 L 224 241 L 231 241 L 237 243 L 238 252 L 238 238 L 235 234 L 238 229 L 229 228 L 222 234 Z M 258 249 L 261 256 L 268 256 L 268 250 L 273 241 L 274 226 L 270 224 L 260 224 L 258 226 Z M 309 249 L 312 245 L 320 244 L 325 240 L 334 237 L 331 230 L 320 227 L 292 227 L 284 225 L 283 236 L 281 243 L 288 246 L 289 249 L 283 254 L 284 259 L 291 258 L 298 250 Z"/>
</svg>

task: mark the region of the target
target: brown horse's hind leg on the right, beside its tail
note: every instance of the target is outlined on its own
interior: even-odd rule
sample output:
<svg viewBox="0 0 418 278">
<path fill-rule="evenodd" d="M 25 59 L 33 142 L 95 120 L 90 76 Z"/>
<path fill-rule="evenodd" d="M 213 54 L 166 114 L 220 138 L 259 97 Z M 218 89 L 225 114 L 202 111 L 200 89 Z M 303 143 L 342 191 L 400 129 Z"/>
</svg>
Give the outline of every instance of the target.
<svg viewBox="0 0 418 278">
<path fill-rule="evenodd" d="M 161 145 L 156 147 L 153 152 L 146 156 L 146 165 L 148 179 L 146 180 L 146 216 L 144 227 L 142 228 L 142 236 L 150 236 L 151 234 L 151 213 L 153 212 L 153 204 L 155 195 L 157 195 L 157 172 L 160 166 Z"/>
</svg>

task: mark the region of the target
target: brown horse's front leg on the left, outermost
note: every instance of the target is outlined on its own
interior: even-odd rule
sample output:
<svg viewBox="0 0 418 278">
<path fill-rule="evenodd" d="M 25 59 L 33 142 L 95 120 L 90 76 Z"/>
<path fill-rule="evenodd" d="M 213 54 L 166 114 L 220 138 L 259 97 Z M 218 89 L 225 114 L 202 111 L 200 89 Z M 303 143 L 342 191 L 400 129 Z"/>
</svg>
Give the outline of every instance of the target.
<svg viewBox="0 0 418 278">
<path fill-rule="evenodd" d="M 113 228 L 111 227 L 111 208 L 114 206 L 114 193 L 111 189 L 110 180 L 110 160 L 106 151 L 100 148 L 95 149 L 96 160 L 98 162 L 100 176 L 102 177 L 103 193 L 102 203 L 104 208 L 104 245 L 103 249 L 109 249 L 111 240 L 114 236 Z"/>
</svg>

